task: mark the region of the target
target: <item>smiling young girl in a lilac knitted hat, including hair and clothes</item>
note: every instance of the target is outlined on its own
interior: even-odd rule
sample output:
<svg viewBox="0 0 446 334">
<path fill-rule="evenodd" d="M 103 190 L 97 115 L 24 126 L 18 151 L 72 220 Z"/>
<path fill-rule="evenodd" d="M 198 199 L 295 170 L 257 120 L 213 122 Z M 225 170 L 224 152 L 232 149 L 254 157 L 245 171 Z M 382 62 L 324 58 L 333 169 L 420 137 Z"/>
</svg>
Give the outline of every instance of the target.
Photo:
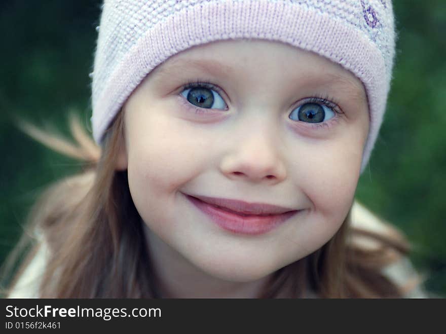
<svg viewBox="0 0 446 334">
<path fill-rule="evenodd" d="M 98 146 L 76 122 L 79 146 L 24 125 L 93 164 L 36 203 L 10 296 L 406 295 L 389 267 L 406 242 L 354 202 L 390 0 L 105 1 L 98 31 Z"/>
</svg>

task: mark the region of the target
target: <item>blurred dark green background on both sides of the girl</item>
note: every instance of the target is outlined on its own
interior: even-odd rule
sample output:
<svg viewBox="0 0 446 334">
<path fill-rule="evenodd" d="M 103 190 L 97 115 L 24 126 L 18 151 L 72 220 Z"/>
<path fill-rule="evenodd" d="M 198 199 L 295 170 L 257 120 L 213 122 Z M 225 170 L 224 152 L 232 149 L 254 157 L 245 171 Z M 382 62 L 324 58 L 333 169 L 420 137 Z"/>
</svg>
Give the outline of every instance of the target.
<svg viewBox="0 0 446 334">
<path fill-rule="evenodd" d="M 406 233 L 426 290 L 446 296 L 446 2 L 398 0 L 394 11 L 392 90 L 356 197 Z M 67 112 L 77 110 L 90 127 L 99 13 L 100 1 L 92 0 L 0 3 L 0 263 L 36 196 L 81 166 L 17 130 L 8 114 L 67 134 Z"/>
</svg>

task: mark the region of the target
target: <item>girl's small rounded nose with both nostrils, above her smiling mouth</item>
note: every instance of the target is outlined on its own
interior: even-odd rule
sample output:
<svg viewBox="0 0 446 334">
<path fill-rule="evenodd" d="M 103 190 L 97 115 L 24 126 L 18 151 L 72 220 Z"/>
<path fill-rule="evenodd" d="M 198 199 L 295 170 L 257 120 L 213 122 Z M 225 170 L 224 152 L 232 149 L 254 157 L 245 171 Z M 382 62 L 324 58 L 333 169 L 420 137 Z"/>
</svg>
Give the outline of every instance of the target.
<svg viewBox="0 0 446 334">
<path fill-rule="evenodd" d="M 281 182 L 286 178 L 286 168 L 280 158 L 277 138 L 272 131 L 250 130 L 254 131 L 232 141 L 232 147 L 221 159 L 221 172 L 231 179 Z"/>
</svg>

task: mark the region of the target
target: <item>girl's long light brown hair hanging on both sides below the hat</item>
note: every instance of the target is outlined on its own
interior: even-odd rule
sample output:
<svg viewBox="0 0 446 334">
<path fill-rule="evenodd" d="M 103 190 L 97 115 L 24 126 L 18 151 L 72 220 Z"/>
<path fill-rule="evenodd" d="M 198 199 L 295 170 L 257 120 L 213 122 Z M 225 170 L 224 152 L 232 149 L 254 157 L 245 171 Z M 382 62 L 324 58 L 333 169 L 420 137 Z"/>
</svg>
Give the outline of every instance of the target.
<svg viewBox="0 0 446 334">
<path fill-rule="evenodd" d="M 127 171 L 116 171 L 116 154 L 123 144 L 124 116 L 118 113 L 105 133 L 102 147 L 70 118 L 76 143 L 70 143 L 20 121 L 18 126 L 34 139 L 67 156 L 84 161 L 77 175 L 50 185 L 31 208 L 28 227 L 41 231 L 51 250 L 40 286 L 42 298 L 157 298 L 143 222 L 133 204 Z M 351 236 L 379 244 L 375 250 L 347 242 Z M 4 270 L 22 266 L 32 258 L 30 240 L 22 238 Z M 32 247 L 31 247 L 32 248 Z M 28 259 L 19 261 L 19 254 Z M 380 235 L 351 227 L 351 210 L 340 230 L 324 246 L 280 270 L 259 298 L 274 298 L 286 284 L 292 296 L 309 288 L 322 298 L 398 298 L 403 287 L 386 278 L 382 270 L 407 254 L 400 234 Z M 305 277 L 302 277 L 302 275 Z M 14 285 L 14 281 L 12 286 Z"/>
</svg>

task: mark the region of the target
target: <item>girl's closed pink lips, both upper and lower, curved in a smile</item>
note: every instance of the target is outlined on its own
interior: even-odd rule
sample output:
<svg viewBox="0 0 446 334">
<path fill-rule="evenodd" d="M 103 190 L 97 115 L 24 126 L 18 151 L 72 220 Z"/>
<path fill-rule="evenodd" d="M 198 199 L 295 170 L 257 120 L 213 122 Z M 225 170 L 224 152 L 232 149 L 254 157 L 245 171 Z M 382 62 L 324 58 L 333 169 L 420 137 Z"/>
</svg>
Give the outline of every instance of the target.
<svg viewBox="0 0 446 334">
<path fill-rule="evenodd" d="M 219 227 L 238 234 L 267 233 L 300 211 L 271 204 L 203 196 L 187 195 L 187 198 Z"/>
</svg>

